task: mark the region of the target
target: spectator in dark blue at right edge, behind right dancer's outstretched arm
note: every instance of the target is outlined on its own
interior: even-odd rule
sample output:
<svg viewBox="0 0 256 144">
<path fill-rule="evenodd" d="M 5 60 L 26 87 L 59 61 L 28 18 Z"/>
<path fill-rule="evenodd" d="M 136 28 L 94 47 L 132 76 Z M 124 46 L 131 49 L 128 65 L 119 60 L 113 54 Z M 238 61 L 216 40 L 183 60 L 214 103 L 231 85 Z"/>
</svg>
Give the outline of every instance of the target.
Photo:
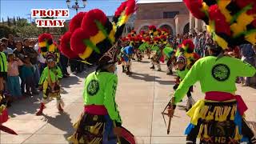
<svg viewBox="0 0 256 144">
<path fill-rule="evenodd" d="M 244 44 L 240 46 L 242 61 L 247 62 L 254 66 L 254 58 L 256 56 L 253 46 L 250 44 Z M 250 86 L 250 77 L 241 78 L 242 86 Z"/>
</svg>

